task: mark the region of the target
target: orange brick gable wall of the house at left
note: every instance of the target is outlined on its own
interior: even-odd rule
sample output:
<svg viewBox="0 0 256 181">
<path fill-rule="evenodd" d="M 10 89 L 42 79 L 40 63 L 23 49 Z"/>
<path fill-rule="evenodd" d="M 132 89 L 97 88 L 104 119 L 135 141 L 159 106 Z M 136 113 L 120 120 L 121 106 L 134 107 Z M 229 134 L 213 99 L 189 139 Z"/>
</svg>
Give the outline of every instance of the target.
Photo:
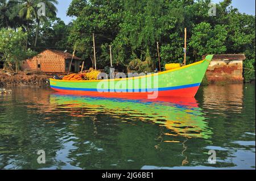
<svg viewBox="0 0 256 181">
<path fill-rule="evenodd" d="M 40 65 L 40 68 L 38 67 Z M 51 50 L 45 50 L 37 56 L 23 61 L 23 70 L 34 70 L 44 72 L 65 72 L 65 58 L 60 56 Z"/>
</svg>

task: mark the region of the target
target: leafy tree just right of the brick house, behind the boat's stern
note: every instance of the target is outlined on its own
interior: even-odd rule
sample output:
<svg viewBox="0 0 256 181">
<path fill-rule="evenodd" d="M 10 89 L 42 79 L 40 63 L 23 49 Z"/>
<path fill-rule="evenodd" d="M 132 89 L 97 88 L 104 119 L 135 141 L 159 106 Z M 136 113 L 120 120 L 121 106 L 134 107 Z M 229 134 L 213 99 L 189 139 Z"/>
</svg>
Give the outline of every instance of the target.
<svg viewBox="0 0 256 181">
<path fill-rule="evenodd" d="M 97 57 L 102 54 L 102 45 L 110 44 L 119 32 L 119 24 L 122 22 L 122 1 L 102 0 L 76 0 L 69 6 L 68 15 L 77 16 L 73 22 L 68 41 L 76 46 L 78 54 L 82 58 L 90 58 L 93 63 L 92 34 L 95 34 Z M 98 68 L 104 68 L 104 59 L 101 56 Z M 110 64 L 110 63 L 109 63 Z"/>
</svg>

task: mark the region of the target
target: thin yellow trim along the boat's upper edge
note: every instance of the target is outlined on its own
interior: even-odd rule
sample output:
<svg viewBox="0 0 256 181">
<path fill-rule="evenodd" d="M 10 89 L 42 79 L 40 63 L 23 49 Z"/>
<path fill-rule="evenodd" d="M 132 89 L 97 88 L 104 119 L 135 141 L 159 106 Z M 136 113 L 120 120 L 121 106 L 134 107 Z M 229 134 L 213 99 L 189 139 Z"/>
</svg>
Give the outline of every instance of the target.
<svg viewBox="0 0 256 181">
<path fill-rule="evenodd" d="M 119 78 L 119 79 L 104 79 L 104 80 L 84 80 L 84 81 L 67 81 L 67 80 L 58 80 L 58 79 L 52 79 L 50 78 L 51 81 L 55 81 L 55 82 L 101 82 L 101 81 L 125 81 L 125 80 L 129 80 L 129 79 L 139 79 L 139 78 L 145 78 L 145 77 L 151 77 L 151 76 L 155 76 L 155 75 L 160 75 L 160 74 L 165 74 L 165 73 L 169 73 L 171 71 L 176 71 L 176 70 L 180 70 L 180 69 L 185 69 L 185 68 L 188 68 L 190 66 L 193 66 L 193 65 L 197 65 L 197 64 L 201 64 L 203 63 L 204 61 L 209 61 L 207 60 L 206 58 L 204 60 L 201 60 L 201 61 L 198 61 L 198 62 L 195 62 L 193 64 L 189 64 L 189 65 L 185 65 L 185 66 L 181 66 L 180 68 L 176 68 L 176 69 L 171 69 L 171 70 L 166 70 L 166 71 L 161 71 L 159 73 L 152 73 L 150 75 L 142 75 L 142 76 L 139 76 L 139 77 L 128 77 L 128 78 Z"/>
</svg>

